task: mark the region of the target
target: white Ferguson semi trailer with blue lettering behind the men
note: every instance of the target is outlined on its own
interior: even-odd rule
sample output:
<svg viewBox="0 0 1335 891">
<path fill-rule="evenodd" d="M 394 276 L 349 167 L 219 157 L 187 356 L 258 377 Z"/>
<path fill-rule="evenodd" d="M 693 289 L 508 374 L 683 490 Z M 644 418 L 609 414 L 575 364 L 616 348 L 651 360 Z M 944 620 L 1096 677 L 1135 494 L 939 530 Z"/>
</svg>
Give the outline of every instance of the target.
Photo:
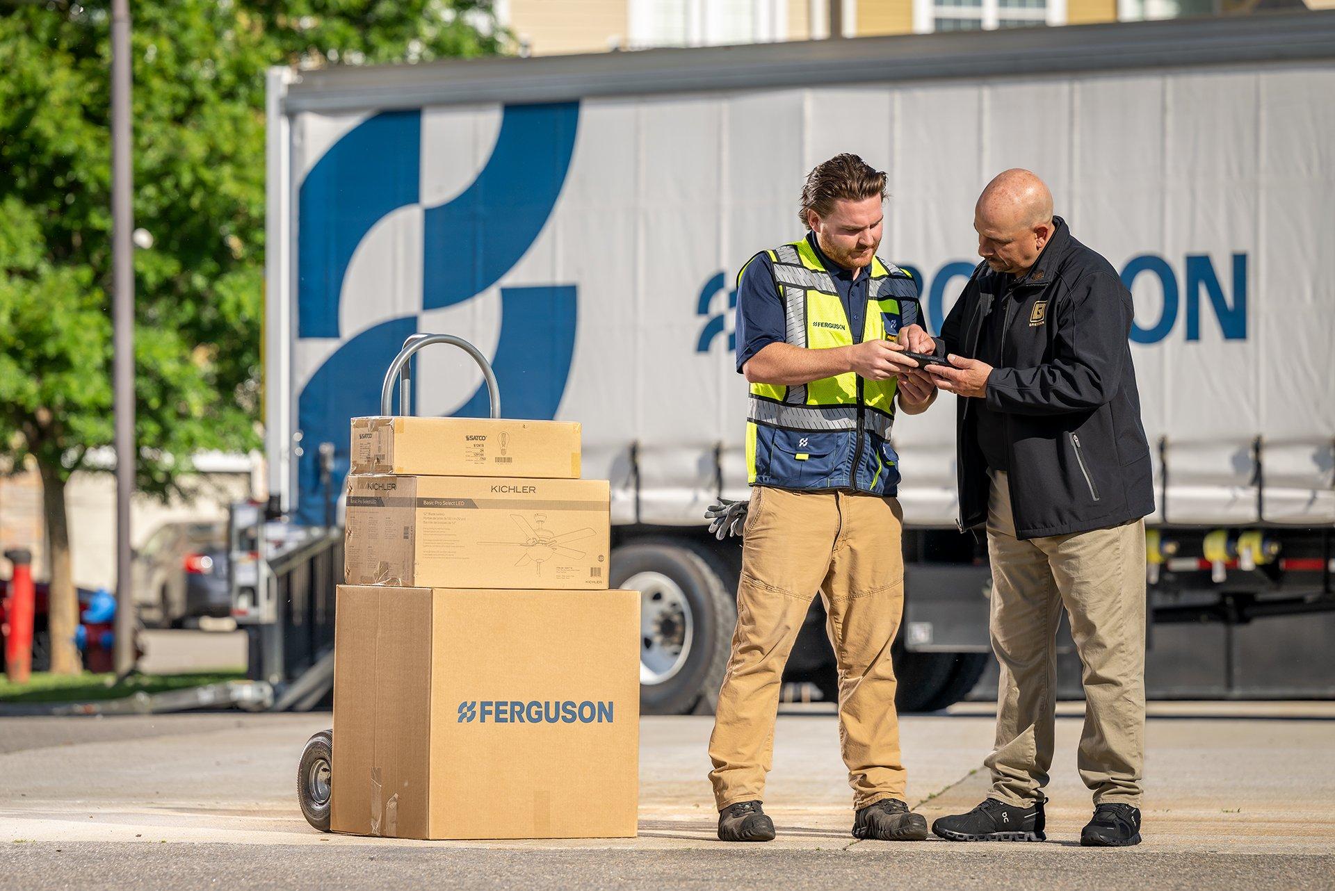
<svg viewBox="0 0 1335 891">
<path fill-rule="evenodd" d="M 591 56 L 274 69 L 266 428 L 272 502 L 336 523 L 348 419 L 403 341 L 477 344 L 505 415 L 578 420 L 611 480 L 611 584 L 643 592 L 642 699 L 708 711 L 746 498 L 738 268 L 802 233 L 805 173 L 888 172 L 880 255 L 939 329 L 975 199 L 1027 167 L 1135 296 L 1155 462 L 1157 696 L 1335 694 L 1335 12 Z M 426 351 L 417 413 L 482 416 Z M 989 664 L 987 548 L 957 526 L 955 397 L 894 425 L 900 704 Z M 829 691 L 820 599 L 789 678 Z M 1071 656 L 1073 659 L 1073 656 Z M 1073 690 L 1079 690 L 1077 684 Z"/>
</svg>

